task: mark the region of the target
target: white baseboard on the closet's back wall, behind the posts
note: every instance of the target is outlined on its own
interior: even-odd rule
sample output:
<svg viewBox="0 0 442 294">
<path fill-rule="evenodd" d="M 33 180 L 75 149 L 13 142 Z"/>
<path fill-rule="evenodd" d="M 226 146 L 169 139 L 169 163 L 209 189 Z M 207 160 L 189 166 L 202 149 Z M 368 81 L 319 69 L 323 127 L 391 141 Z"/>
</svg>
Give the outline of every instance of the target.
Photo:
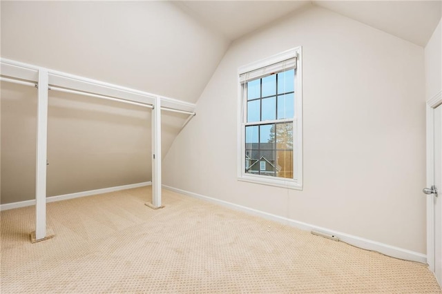
<svg viewBox="0 0 442 294">
<path fill-rule="evenodd" d="M 89 190 L 84 192 L 77 192 L 77 193 L 70 193 L 65 195 L 58 195 L 58 196 L 51 196 L 46 198 L 46 202 L 56 202 L 66 199 L 73 199 L 78 197 L 85 197 L 85 196 L 91 196 L 91 195 L 97 195 L 97 194 L 103 194 L 103 193 L 110 193 L 114 191 L 119 190 L 126 190 L 126 189 L 132 189 L 132 188 L 138 188 L 138 187 L 144 187 L 144 186 L 151 186 L 152 182 L 142 182 L 137 184 L 129 184 L 124 186 L 116 186 L 116 187 L 109 187 L 109 188 L 102 188 L 97 190 Z M 25 206 L 32 206 L 35 205 L 35 199 L 32 200 L 26 200 L 21 202 L 13 202 L 13 203 L 7 203 L 7 204 L 1 204 L 0 205 L 0 211 L 1 210 L 8 210 L 13 208 L 20 208 Z"/>
</svg>

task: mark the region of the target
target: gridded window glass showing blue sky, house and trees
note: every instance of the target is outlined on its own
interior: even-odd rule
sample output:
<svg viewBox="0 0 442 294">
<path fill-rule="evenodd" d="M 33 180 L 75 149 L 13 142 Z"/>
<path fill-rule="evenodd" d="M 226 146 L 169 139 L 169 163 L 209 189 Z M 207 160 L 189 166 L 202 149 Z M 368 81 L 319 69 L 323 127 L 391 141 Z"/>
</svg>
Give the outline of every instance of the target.
<svg viewBox="0 0 442 294">
<path fill-rule="evenodd" d="M 293 178 L 294 69 L 253 79 L 245 87 L 250 163 L 245 173 Z"/>
</svg>

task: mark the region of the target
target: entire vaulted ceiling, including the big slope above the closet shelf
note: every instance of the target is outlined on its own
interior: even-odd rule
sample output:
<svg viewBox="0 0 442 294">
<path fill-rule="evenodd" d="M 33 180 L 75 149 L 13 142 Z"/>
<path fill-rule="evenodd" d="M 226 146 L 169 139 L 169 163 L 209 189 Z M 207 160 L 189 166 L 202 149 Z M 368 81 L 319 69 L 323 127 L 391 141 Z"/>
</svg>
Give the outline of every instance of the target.
<svg viewBox="0 0 442 294">
<path fill-rule="evenodd" d="M 1 57 L 195 103 L 229 44 L 312 6 L 425 46 L 441 1 L 1 1 Z"/>
</svg>

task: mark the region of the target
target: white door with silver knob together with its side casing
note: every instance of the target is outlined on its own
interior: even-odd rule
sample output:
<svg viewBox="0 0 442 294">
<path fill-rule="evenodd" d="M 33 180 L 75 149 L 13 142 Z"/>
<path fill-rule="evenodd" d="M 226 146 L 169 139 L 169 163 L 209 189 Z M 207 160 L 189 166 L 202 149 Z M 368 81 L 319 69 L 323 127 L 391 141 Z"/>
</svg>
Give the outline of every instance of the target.
<svg viewBox="0 0 442 294">
<path fill-rule="evenodd" d="M 427 262 L 442 286 L 442 105 L 427 116 Z"/>
</svg>

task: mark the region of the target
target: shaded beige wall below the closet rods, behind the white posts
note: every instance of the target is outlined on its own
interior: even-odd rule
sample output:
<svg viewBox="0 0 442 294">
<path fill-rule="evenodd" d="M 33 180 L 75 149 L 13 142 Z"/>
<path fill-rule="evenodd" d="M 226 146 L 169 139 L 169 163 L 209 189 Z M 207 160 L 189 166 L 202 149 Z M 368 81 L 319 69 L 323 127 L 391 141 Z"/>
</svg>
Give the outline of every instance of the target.
<svg viewBox="0 0 442 294">
<path fill-rule="evenodd" d="M 35 199 L 37 89 L 2 83 L 1 104 L 1 204 Z M 150 181 L 150 112 L 50 92 L 48 196 Z"/>
</svg>

